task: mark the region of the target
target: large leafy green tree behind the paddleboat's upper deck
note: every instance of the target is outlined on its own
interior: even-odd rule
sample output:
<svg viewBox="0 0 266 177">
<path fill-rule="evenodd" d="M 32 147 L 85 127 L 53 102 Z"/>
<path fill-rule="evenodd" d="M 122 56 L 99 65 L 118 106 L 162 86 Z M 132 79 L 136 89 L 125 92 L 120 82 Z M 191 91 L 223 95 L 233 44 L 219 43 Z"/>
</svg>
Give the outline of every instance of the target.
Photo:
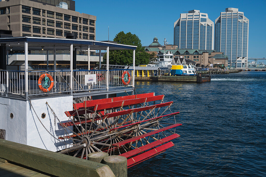
<svg viewBox="0 0 266 177">
<path fill-rule="evenodd" d="M 137 46 L 135 52 L 135 65 L 148 64 L 150 54 L 144 51 L 144 47 L 141 45 L 141 41 L 136 34 L 131 32 L 124 33 L 119 32 L 115 35 L 114 41 L 118 44 L 126 44 L 131 46 Z M 103 56 L 103 63 L 106 64 L 106 53 Z M 114 65 L 133 65 L 133 50 L 112 50 L 109 51 L 109 64 Z"/>
</svg>

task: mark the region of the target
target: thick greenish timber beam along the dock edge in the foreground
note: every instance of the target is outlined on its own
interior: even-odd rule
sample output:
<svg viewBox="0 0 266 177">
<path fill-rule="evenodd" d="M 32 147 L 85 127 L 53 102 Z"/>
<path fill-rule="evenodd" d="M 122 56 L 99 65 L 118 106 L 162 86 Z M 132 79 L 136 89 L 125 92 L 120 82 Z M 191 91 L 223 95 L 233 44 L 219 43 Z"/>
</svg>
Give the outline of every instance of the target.
<svg viewBox="0 0 266 177">
<path fill-rule="evenodd" d="M 55 176 L 114 176 L 107 165 L 20 143 L 0 139 L 0 149 L 0 158 Z"/>
</svg>

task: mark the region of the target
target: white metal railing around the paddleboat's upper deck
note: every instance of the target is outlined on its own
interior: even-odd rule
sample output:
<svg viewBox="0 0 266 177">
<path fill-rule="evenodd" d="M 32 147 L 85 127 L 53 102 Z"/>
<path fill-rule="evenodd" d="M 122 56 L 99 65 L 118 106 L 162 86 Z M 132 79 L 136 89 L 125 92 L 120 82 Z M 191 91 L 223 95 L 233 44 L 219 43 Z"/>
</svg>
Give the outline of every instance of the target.
<svg viewBox="0 0 266 177">
<path fill-rule="evenodd" d="M 128 85 L 122 82 L 122 74 L 124 71 L 130 73 L 131 80 Z M 43 92 L 39 89 L 38 80 L 43 74 L 49 74 L 53 77 L 54 85 L 49 92 Z M 96 82 L 86 84 L 85 75 L 94 75 Z M 114 69 L 109 70 L 109 82 L 107 81 L 107 70 L 73 70 L 71 78 L 71 70 L 56 71 L 28 71 L 28 95 L 51 94 L 51 93 L 79 93 L 89 92 L 93 90 L 106 90 L 114 87 L 133 86 L 133 69 Z M 72 80 L 71 80 L 72 79 Z M 72 86 L 71 83 L 72 82 Z M 48 83 L 50 84 L 50 83 Z M 0 95 L 12 96 L 13 94 L 26 97 L 25 93 L 25 71 L 0 70 Z"/>
</svg>

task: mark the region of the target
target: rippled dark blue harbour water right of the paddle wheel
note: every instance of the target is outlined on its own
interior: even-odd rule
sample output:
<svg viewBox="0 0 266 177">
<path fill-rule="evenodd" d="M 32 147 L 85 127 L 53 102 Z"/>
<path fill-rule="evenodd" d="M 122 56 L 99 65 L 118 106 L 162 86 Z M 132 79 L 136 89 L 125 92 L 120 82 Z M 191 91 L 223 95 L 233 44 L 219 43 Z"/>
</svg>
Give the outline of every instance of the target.
<svg viewBox="0 0 266 177">
<path fill-rule="evenodd" d="M 175 146 L 129 168 L 128 176 L 266 176 L 266 72 L 211 77 L 202 84 L 135 83 L 138 94 L 174 101 L 182 126 Z"/>
</svg>

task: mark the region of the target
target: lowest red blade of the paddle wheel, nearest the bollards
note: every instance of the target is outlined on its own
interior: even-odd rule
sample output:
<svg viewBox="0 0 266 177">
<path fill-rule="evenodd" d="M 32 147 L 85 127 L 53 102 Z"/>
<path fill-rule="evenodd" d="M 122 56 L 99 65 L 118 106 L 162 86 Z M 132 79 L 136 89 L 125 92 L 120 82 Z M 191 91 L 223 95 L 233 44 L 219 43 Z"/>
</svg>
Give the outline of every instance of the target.
<svg viewBox="0 0 266 177">
<path fill-rule="evenodd" d="M 161 145 L 159 147 L 156 147 L 152 150 L 149 150 L 145 153 L 142 153 L 140 155 L 137 155 L 135 157 L 132 157 L 130 159 L 127 160 L 127 168 L 130 168 L 140 162 L 143 162 L 144 160 L 147 160 L 149 158 L 152 158 L 154 157 L 155 155 L 158 155 L 162 152 L 164 152 L 166 149 L 168 149 L 169 147 L 172 147 L 174 146 L 174 143 L 173 142 L 169 142 L 169 143 L 166 143 L 164 145 Z"/>
</svg>

